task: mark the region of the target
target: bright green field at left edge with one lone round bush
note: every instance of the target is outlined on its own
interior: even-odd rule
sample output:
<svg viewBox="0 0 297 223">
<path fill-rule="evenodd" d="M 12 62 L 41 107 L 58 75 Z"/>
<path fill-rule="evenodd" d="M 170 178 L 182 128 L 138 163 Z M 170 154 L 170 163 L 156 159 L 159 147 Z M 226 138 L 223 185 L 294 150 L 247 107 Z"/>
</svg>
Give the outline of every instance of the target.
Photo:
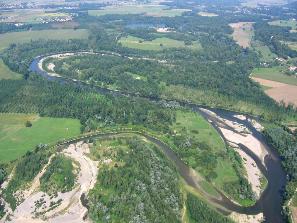
<svg viewBox="0 0 297 223">
<path fill-rule="evenodd" d="M 27 120 L 32 123 L 29 128 L 25 127 Z M 80 122 L 77 119 L 0 113 L 0 161 L 16 159 L 40 142 L 48 144 L 78 134 Z"/>
</svg>

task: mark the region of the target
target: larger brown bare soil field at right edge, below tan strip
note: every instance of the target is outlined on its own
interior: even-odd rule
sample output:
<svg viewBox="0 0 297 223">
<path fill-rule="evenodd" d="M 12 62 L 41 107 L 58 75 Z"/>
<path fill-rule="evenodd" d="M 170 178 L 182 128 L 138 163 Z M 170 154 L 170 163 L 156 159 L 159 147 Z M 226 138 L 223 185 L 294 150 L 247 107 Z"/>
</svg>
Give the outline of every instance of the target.
<svg viewBox="0 0 297 223">
<path fill-rule="evenodd" d="M 268 89 L 265 93 L 277 102 L 284 99 L 286 104 L 293 102 L 297 105 L 297 86 L 295 85 L 287 84 L 282 87 Z"/>
</svg>

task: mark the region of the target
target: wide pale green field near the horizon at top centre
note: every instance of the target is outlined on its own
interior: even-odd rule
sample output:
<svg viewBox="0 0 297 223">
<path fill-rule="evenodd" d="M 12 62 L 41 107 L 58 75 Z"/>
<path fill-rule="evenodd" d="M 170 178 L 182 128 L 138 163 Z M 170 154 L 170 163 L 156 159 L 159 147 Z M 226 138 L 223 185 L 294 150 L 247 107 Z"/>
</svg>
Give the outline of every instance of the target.
<svg viewBox="0 0 297 223">
<path fill-rule="evenodd" d="M 102 10 L 89 10 L 89 15 L 107 15 L 107 14 L 136 14 L 146 12 L 148 16 L 168 16 L 174 17 L 181 15 L 182 12 L 187 11 L 186 9 L 179 10 L 166 10 L 169 8 L 165 5 L 154 4 L 137 4 L 137 5 L 113 5 L 103 7 Z"/>
</svg>

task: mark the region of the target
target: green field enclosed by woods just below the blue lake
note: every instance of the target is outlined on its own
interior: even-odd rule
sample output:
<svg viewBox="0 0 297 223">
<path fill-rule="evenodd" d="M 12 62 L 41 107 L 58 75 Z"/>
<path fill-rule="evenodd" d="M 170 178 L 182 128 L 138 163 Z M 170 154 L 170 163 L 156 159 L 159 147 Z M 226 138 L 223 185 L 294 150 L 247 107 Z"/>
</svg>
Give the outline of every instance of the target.
<svg viewBox="0 0 297 223">
<path fill-rule="evenodd" d="M 139 40 L 143 41 L 143 43 L 139 43 Z M 122 37 L 119 42 L 122 44 L 122 46 L 141 50 L 162 50 L 163 48 L 167 47 L 185 47 L 184 41 L 172 40 L 169 38 L 157 38 L 153 41 L 144 41 L 138 37 L 128 36 L 127 38 Z M 160 46 L 160 43 L 162 43 L 163 46 Z M 192 49 L 202 49 L 202 46 L 199 42 L 186 47 Z"/>
</svg>

